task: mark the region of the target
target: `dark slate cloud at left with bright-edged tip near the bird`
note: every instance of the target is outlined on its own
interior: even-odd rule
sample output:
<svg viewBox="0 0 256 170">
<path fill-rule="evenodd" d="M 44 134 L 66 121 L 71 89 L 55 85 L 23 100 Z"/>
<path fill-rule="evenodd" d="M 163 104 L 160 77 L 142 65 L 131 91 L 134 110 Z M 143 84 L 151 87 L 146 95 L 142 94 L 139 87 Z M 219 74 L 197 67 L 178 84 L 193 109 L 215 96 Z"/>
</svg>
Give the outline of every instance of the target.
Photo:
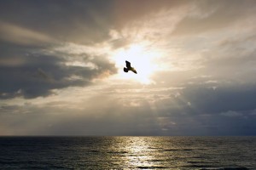
<svg viewBox="0 0 256 170">
<path fill-rule="evenodd" d="M 107 77 L 116 72 L 115 66 L 102 56 L 84 54 L 84 64 L 90 62 L 95 65 L 91 68 L 66 65 L 68 60 L 65 57 L 32 53 L 33 50 L 14 46 L 1 48 L 1 99 L 47 96 L 52 94 L 52 89 L 89 85 L 97 77 Z"/>
</svg>

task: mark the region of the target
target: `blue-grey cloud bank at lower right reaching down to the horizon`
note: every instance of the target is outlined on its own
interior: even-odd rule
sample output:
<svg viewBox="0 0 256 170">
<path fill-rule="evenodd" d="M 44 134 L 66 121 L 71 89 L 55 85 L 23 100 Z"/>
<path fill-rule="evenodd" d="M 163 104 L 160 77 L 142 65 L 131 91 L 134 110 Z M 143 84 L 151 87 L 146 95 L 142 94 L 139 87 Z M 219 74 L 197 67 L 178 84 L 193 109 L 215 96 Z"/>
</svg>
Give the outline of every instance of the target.
<svg viewBox="0 0 256 170">
<path fill-rule="evenodd" d="M 255 86 L 190 86 L 154 103 L 166 135 L 254 135 Z M 177 92 L 176 92 L 177 93 Z"/>
</svg>

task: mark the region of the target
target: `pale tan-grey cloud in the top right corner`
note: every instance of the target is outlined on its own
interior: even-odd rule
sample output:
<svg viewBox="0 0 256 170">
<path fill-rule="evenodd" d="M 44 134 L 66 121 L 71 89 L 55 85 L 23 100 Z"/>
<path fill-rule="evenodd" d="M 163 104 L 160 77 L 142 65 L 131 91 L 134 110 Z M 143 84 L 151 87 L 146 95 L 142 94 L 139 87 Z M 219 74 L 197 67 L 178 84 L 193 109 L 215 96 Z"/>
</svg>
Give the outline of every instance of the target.
<svg viewBox="0 0 256 170">
<path fill-rule="evenodd" d="M 196 1 L 195 8 L 178 24 L 172 35 L 198 35 L 243 23 L 252 17 L 255 1 Z M 246 23 L 244 23 L 246 25 Z"/>
</svg>

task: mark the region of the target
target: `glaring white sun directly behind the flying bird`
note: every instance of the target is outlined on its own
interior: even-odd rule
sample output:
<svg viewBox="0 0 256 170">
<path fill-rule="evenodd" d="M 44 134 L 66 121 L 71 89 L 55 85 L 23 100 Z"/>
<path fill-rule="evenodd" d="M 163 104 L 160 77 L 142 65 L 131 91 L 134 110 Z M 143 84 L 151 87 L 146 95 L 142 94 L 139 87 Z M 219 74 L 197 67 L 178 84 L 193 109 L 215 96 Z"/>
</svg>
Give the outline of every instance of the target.
<svg viewBox="0 0 256 170">
<path fill-rule="evenodd" d="M 121 48 L 114 52 L 113 60 L 118 67 L 118 78 L 130 79 L 143 84 L 150 84 L 153 81 L 150 77 L 157 70 L 158 65 L 154 60 L 160 55 L 156 50 L 148 47 L 147 43 L 134 43 L 128 48 Z M 131 66 L 137 70 L 137 74 L 132 72 L 125 73 L 123 68 L 125 60 L 131 62 Z"/>
</svg>

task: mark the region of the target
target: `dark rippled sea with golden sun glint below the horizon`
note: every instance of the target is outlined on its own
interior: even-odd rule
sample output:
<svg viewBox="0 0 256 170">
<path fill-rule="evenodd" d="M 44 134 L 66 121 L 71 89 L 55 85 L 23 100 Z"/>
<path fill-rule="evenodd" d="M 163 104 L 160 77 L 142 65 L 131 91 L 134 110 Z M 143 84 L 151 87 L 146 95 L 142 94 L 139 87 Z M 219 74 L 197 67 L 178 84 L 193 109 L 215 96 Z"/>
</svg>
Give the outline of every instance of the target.
<svg viewBox="0 0 256 170">
<path fill-rule="evenodd" d="M 0 169 L 256 169 L 255 137 L 1 137 Z"/>
</svg>

